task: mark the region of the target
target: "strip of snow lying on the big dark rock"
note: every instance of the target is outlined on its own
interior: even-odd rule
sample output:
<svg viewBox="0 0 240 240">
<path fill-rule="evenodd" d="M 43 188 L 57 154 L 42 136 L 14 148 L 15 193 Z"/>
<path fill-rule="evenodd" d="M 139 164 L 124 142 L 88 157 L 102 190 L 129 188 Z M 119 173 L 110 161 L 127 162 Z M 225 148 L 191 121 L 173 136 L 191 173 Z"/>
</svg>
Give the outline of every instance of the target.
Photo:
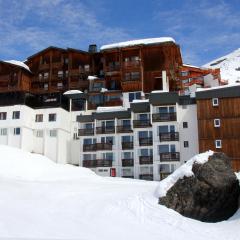
<svg viewBox="0 0 240 240">
<path fill-rule="evenodd" d="M 191 177 L 193 176 L 192 166 L 194 163 L 204 164 L 208 161 L 209 156 L 213 155 L 213 151 L 207 151 L 204 153 L 200 153 L 190 160 L 188 160 L 185 164 L 179 167 L 174 173 L 169 175 L 167 178 L 163 179 L 159 187 L 157 189 L 158 197 L 164 197 L 167 194 L 167 191 L 178 181 L 178 179 L 182 179 L 184 176 Z"/>
</svg>

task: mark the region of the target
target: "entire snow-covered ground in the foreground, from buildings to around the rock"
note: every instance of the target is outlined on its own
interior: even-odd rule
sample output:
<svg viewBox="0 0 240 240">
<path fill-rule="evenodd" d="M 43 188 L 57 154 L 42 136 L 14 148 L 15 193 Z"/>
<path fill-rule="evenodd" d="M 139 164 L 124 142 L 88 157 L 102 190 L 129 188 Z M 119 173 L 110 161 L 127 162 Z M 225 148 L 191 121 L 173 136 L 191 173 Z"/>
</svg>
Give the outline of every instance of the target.
<svg viewBox="0 0 240 240">
<path fill-rule="evenodd" d="M 88 169 L 0 146 L 0 239 L 233 240 L 240 211 L 202 223 L 158 205 L 158 182 Z"/>
</svg>

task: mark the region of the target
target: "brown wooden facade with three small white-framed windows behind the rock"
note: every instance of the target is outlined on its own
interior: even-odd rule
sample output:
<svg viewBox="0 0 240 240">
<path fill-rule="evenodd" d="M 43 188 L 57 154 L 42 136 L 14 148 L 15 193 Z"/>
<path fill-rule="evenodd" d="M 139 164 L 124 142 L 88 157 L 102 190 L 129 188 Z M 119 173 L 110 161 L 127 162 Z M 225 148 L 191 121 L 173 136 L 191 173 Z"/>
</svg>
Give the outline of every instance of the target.
<svg viewBox="0 0 240 240">
<path fill-rule="evenodd" d="M 226 97 L 223 94 L 216 98 L 218 99 L 217 106 L 213 106 L 213 98 L 197 99 L 197 114 L 199 151 L 211 149 L 224 152 L 231 158 L 233 169 L 239 171 L 240 87 L 236 91 L 239 91 L 239 96 Z M 216 140 L 221 141 L 220 148 L 216 147 Z"/>
</svg>

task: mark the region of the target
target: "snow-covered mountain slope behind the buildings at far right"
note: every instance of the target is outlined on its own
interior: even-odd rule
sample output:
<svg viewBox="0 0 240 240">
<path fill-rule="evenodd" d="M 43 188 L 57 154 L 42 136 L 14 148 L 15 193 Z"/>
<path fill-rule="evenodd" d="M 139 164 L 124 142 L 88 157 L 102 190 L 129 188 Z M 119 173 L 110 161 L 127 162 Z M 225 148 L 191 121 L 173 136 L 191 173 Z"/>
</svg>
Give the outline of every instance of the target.
<svg viewBox="0 0 240 240">
<path fill-rule="evenodd" d="M 228 80 L 229 84 L 240 81 L 240 48 L 205 64 L 203 67 L 220 68 L 222 79 Z"/>
</svg>

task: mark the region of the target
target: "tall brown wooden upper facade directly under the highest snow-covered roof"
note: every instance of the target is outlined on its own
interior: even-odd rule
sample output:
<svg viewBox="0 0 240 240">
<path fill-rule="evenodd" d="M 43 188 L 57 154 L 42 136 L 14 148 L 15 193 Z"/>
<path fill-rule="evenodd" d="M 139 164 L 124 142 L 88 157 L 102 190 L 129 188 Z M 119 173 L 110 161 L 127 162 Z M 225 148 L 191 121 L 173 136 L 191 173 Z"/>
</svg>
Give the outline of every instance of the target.
<svg viewBox="0 0 240 240">
<path fill-rule="evenodd" d="M 166 71 L 170 91 L 178 90 L 176 81 L 182 58 L 175 43 L 113 48 L 104 50 L 102 54 L 109 89 L 146 93 L 161 90 L 162 71 Z"/>
</svg>

